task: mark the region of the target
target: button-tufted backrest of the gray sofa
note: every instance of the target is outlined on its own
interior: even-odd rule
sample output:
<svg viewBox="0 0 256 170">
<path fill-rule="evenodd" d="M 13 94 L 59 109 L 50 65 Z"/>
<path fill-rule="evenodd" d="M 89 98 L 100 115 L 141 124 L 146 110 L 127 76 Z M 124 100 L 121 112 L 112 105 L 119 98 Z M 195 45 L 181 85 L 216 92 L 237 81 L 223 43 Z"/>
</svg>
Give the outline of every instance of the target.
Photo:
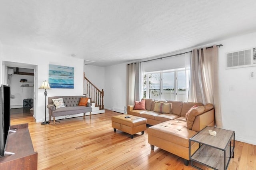
<svg viewBox="0 0 256 170">
<path fill-rule="evenodd" d="M 51 104 L 51 103 L 53 104 L 52 99 L 62 98 L 65 107 L 74 107 L 74 106 L 78 106 L 81 97 L 85 97 L 85 96 L 54 96 L 54 97 L 48 97 L 48 104 Z"/>
</svg>

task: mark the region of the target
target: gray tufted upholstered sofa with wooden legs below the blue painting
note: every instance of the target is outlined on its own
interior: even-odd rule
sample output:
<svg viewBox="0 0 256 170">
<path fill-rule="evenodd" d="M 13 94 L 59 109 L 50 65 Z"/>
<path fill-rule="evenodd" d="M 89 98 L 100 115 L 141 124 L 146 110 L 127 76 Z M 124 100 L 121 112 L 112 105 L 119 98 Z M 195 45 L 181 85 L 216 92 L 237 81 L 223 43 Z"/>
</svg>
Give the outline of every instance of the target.
<svg viewBox="0 0 256 170">
<path fill-rule="evenodd" d="M 79 113 L 88 113 L 90 112 L 90 119 L 91 119 L 91 112 L 92 112 L 92 103 L 87 103 L 87 106 L 78 106 L 80 98 L 85 96 L 54 96 L 48 97 L 48 105 L 47 108 L 49 109 L 49 117 L 53 117 L 53 124 L 55 125 L 55 117 L 58 116 L 66 116 L 66 115 L 74 115 Z M 65 107 L 56 109 L 52 99 L 62 98 Z"/>
</svg>

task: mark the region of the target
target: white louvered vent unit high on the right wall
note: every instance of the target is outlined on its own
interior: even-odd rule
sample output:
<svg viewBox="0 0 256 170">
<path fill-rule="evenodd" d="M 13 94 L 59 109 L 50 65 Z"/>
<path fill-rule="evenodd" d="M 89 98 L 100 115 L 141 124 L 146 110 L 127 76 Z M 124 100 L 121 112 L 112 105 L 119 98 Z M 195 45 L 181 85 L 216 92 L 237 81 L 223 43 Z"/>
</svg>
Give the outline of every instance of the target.
<svg viewBox="0 0 256 170">
<path fill-rule="evenodd" d="M 256 47 L 227 53 L 226 69 L 256 66 Z"/>
</svg>

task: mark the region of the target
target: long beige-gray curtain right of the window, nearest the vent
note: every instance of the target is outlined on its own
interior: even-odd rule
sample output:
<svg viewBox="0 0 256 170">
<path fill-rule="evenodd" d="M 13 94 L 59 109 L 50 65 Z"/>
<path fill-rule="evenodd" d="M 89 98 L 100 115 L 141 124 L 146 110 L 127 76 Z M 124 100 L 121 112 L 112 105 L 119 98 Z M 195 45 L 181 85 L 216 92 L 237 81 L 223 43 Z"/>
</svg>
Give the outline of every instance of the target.
<svg viewBox="0 0 256 170">
<path fill-rule="evenodd" d="M 190 65 L 190 85 L 188 101 L 212 103 L 215 108 L 216 126 L 222 128 L 218 83 L 218 49 L 193 49 Z"/>
</svg>

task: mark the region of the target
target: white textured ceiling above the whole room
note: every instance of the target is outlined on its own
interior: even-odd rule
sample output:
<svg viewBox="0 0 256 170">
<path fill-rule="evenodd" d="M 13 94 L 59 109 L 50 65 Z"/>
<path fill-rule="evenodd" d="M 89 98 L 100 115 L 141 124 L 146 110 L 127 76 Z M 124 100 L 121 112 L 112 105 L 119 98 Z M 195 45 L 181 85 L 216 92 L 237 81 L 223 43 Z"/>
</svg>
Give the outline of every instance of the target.
<svg viewBox="0 0 256 170">
<path fill-rule="evenodd" d="M 255 7 L 255 0 L 0 0 L 0 42 L 108 66 L 256 32 Z"/>
</svg>

